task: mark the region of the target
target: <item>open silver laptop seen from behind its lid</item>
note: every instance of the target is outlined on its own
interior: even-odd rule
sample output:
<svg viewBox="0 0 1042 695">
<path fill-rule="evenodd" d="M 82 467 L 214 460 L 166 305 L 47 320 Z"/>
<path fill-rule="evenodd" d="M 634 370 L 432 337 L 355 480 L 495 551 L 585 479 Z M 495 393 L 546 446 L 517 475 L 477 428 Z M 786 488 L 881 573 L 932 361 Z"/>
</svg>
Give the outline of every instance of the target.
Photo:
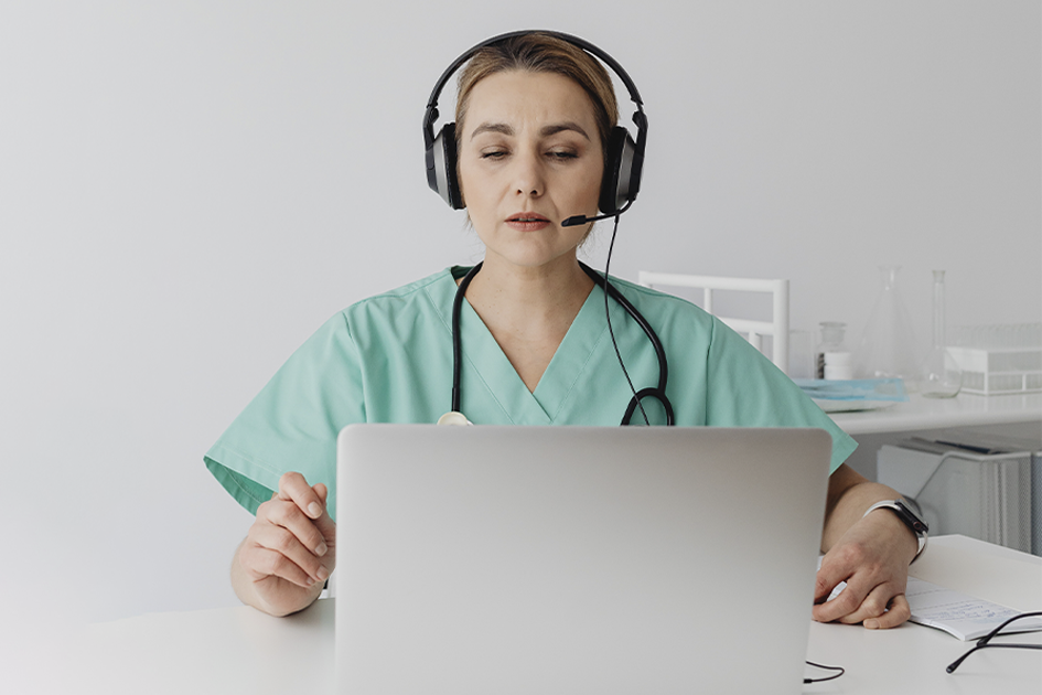
<svg viewBox="0 0 1042 695">
<path fill-rule="evenodd" d="M 799 693 L 820 429 L 353 425 L 340 693 Z"/>
</svg>

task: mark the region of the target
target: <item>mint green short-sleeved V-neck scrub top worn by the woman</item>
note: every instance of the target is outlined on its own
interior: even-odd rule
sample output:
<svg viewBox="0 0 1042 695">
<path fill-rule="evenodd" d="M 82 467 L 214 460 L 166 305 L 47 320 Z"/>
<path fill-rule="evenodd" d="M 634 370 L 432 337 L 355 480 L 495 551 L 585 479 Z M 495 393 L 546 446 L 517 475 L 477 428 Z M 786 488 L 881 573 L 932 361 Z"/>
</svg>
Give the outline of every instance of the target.
<svg viewBox="0 0 1042 695">
<path fill-rule="evenodd" d="M 299 471 L 330 489 L 335 510 L 336 437 L 353 423 L 433 424 L 452 399 L 451 268 L 359 301 L 330 319 L 276 373 L 204 457 L 250 512 L 279 478 Z M 658 333 L 668 360 L 666 393 L 686 427 L 820 427 L 832 437 L 830 471 L 857 443 L 774 364 L 719 319 L 670 295 L 612 278 Z M 647 336 L 614 300 L 612 328 L 640 391 L 658 384 Z M 604 293 L 594 287 L 534 393 L 474 310 L 460 320 L 463 414 L 475 425 L 620 424 L 632 393 L 612 348 Z M 652 425 L 664 425 L 645 399 Z M 632 421 L 643 424 L 637 410 Z"/>
</svg>

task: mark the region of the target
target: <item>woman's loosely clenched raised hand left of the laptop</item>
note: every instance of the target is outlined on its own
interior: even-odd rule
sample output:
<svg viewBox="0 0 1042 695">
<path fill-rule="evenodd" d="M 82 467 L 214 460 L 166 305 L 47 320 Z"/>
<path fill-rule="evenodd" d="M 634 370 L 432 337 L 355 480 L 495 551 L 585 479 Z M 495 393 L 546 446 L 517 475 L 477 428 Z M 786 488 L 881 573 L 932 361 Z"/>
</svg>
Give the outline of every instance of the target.
<svg viewBox="0 0 1042 695">
<path fill-rule="evenodd" d="M 279 479 L 278 492 L 257 507 L 232 565 L 232 586 L 243 602 L 287 616 L 318 598 L 336 565 L 327 496 L 324 484 L 311 487 L 300 473 Z"/>
</svg>

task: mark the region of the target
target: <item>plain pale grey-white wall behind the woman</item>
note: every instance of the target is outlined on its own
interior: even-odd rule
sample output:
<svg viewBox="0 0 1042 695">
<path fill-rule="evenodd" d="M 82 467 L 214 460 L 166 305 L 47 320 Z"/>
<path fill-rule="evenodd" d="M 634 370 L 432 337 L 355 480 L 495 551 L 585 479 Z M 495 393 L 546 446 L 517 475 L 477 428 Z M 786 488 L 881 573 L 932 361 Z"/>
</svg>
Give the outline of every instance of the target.
<svg viewBox="0 0 1042 695">
<path fill-rule="evenodd" d="M 334 311 L 480 257 L 419 126 L 501 31 L 643 93 L 617 275 L 788 277 L 858 331 L 899 261 L 924 338 L 934 267 L 953 323 L 1042 316 L 1036 1 L 357 4 L 0 8 L 0 624 L 235 601 L 202 455 Z"/>
</svg>

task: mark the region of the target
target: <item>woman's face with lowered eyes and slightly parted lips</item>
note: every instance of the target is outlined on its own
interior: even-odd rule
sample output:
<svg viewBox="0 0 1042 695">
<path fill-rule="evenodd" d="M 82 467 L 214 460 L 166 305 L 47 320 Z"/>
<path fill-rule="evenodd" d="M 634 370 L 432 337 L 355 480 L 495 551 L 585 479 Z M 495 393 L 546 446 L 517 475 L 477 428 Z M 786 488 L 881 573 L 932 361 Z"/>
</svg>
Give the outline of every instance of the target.
<svg viewBox="0 0 1042 695">
<path fill-rule="evenodd" d="M 512 71 L 474 85 L 460 135 L 460 185 L 486 261 L 574 258 L 595 215 L 604 161 L 593 104 L 562 75 Z"/>
</svg>

